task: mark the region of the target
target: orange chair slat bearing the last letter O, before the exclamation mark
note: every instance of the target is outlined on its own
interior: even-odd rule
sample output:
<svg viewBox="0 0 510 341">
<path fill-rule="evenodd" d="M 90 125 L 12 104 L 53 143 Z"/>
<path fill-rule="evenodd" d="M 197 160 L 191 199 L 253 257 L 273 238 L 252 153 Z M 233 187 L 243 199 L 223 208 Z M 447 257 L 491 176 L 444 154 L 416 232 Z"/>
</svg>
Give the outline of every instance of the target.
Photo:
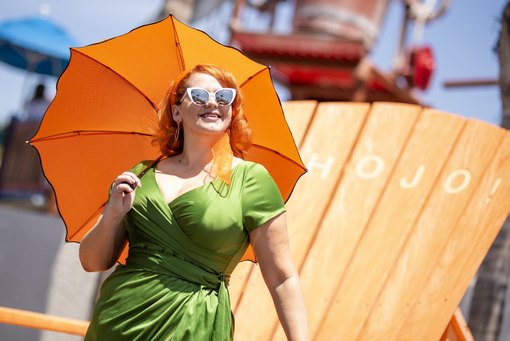
<svg viewBox="0 0 510 341">
<path fill-rule="evenodd" d="M 494 126 L 468 120 L 357 339 L 397 337 L 395 326 L 401 326 L 409 314 L 502 137 L 503 132 Z M 467 178 L 453 177 L 458 172 L 470 175 L 465 187 Z M 458 188 L 463 189 L 454 190 Z M 331 330 L 335 323 L 336 318 L 329 314 L 323 329 Z"/>
</svg>

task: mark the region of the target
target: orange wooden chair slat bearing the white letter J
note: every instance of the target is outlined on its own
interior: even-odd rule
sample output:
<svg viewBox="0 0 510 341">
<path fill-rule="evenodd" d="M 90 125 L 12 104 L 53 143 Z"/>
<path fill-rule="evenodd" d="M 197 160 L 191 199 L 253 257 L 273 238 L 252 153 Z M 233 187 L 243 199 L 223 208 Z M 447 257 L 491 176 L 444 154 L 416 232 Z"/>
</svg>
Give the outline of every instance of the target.
<svg viewBox="0 0 510 341">
<path fill-rule="evenodd" d="M 336 335 L 342 339 L 354 339 L 360 331 L 359 321 L 369 314 L 464 122 L 460 116 L 423 110 L 368 225 L 356 225 L 365 232 L 340 285 L 331 293 L 334 303 L 329 307 L 329 314 L 342 316 L 335 323 Z M 366 195 L 363 192 L 360 199 Z"/>
</svg>

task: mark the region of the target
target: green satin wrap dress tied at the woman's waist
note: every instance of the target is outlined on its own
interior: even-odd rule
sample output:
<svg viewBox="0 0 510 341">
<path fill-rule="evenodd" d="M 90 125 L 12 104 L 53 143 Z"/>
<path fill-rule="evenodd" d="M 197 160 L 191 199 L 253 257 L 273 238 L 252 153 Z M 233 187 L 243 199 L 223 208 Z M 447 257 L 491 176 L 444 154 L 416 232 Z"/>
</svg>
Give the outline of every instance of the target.
<svg viewBox="0 0 510 341">
<path fill-rule="evenodd" d="M 285 211 L 281 194 L 262 165 L 242 161 L 230 187 L 217 178 L 167 204 L 155 168 L 125 216 L 126 264 L 101 286 L 85 340 L 232 340 L 228 279 L 248 233 Z"/>
</svg>

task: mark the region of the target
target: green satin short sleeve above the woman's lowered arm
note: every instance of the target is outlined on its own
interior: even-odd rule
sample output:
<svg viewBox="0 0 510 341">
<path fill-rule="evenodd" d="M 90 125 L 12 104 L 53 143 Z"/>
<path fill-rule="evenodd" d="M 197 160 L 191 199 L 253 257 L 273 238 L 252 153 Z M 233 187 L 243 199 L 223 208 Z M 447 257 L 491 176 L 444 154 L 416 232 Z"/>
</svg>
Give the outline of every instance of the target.
<svg viewBox="0 0 510 341">
<path fill-rule="evenodd" d="M 254 163 L 247 169 L 241 207 L 243 225 L 248 232 L 285 212 L 282 194 L 264 166 Z"/>
</svg>

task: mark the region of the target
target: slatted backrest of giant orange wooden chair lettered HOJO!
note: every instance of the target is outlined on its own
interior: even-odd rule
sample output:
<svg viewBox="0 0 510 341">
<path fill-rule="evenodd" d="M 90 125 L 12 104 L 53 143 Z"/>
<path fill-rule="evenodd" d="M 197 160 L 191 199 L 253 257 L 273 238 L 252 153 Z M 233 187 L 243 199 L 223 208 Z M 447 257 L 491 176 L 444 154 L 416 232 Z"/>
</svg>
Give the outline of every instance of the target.
<svg viewBox="0 0 510 341">
<path fill-rule="evenodd" d="M 510 133 L 398 103 L 284 111 L 310 170 L 286 206 L 312 339 L 465 332 L 457 305 L 510 210 Z M 230 293 L 236 339 L 285 339 L 256 266 Z"/>
</svg>

